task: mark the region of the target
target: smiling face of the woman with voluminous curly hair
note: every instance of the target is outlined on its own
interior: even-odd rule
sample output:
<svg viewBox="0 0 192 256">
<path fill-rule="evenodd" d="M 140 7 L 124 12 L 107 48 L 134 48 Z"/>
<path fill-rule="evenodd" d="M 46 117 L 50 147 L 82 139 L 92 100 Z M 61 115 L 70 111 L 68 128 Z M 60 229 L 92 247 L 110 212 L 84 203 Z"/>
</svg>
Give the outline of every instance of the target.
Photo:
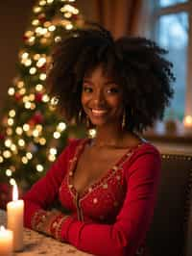
<svg viewBox="0 0 192 256">
<path fill-rule="evenodd" d="M 82 105 L 96 126 L 121 122 L 123 90 L 98 66 L 84 77 Z"/>
</svg>

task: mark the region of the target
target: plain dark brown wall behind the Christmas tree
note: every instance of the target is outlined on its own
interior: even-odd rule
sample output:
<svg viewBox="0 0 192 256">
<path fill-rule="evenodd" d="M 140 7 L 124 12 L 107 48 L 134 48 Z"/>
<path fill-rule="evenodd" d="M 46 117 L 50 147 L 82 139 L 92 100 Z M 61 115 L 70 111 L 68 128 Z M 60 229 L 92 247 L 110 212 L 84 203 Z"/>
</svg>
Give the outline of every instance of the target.
<svg viewBox="0 0 192 256">
<path fill-rule="evenodd" d="M 0 1 L 0 115 L 7 90 L 16 75 L 15 64 L 23 34 L 29 23 L 36 0 Z M 88 20 L 95 20 L 95 0 L 77 0 L 80 12 Z"/>
</svg>

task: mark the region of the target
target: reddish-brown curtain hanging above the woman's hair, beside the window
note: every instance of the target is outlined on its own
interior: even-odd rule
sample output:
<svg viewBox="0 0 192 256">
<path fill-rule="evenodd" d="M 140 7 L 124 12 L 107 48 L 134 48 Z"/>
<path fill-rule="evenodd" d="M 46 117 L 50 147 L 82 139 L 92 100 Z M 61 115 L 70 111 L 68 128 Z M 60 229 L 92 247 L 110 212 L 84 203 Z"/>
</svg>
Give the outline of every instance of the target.
<svg viewBox="0 0 192 256">
<path fill-rule="evenodd" d="M 142 0 L 95 0 L 97 21 L 107 28 L 114 38 L 142 36 L 145 22 L 146 1 Z"/>
</svg>

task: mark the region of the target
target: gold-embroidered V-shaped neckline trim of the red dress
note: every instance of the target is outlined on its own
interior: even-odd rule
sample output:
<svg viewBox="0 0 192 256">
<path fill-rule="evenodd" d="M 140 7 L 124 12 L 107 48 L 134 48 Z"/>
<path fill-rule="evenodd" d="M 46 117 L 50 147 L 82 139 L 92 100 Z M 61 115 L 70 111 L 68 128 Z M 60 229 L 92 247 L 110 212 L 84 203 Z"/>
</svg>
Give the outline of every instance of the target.
<svg viewBox="0 0 192 256">
<path fill-rule="evenodd" d="M 81 154 L 84 152 L 84 147 L 87 142 L 90 142 L 91 139 L 84 139 L 83 141 L 80 142 L 80 144 L 77 146 L 74 157 L 71 159 L 71 165 L 69 166 L 68 170 L 68 187 L 70 191 L 73 193 L 75 197 L 79 197 L 79 199 L 83 199 L 84 196 L 88 192 L 92 192 L 93 189 L 97 188 L 100 186 L 104 180 L 108 179 L 108 177 L 116 172 L 117 169 L 119 169 L 121 166 L 124 165 L 124 163 L 127 161 L 128 158 L 132 155 L 132 152 L 140 147 L 144 141 L 140 141 L 136 146 L 129 147 L 126 153 L 120 157 L 119 160 L 116 161 L 116 164 L 114 166 L 111 166 L 106 170 L 99 178 L 97 178 L 94 182 L 90 183 L 89 185 L 85 186 L 83 192 L 78 192 L 74 186 L 73 183 L 73 176 L 74 176 L 74 171 L 77 167 L 78 161 L 81 157 Z"/>
</svg>

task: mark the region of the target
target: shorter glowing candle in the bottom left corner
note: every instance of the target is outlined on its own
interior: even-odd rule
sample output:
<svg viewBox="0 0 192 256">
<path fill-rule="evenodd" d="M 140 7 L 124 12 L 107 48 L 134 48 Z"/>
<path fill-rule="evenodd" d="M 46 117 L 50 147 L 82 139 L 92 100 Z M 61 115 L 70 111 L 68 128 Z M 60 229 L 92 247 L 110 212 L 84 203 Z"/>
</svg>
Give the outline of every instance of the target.
<svg viewBox="0 0 192 256">
<path fill-rule="evenodd" d="M 0 256 L 12 255 L 12 231 L 0 227 Z"/>
</svg>

